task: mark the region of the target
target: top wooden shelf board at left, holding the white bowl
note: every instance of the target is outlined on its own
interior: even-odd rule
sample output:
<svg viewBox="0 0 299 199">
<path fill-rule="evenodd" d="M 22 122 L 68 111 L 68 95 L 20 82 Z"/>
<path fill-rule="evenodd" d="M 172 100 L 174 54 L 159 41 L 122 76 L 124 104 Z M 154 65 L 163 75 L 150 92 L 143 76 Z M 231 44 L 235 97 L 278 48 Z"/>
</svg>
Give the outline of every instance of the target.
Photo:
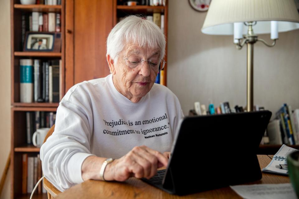
<svg viewBox="0 0 299 199">
<path fill-rule="evenodd" d="M 32 12 L 61 12 L 61 5 L 22 5 L 22 4 L 14 4 L 13 6 L 16 9 Z"/>
</svg>

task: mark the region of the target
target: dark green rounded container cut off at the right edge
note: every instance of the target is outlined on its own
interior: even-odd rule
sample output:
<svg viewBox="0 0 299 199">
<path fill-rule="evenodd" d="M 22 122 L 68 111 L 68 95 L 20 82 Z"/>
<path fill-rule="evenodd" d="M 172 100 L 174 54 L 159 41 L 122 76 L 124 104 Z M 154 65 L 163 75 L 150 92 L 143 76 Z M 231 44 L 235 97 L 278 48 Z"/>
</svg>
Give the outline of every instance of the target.
<svg viewBox="0 0 299 199">
<path fill-rule="evenodd" d="M 287 156 L 287 167 L 294 190 L 299 198 L 299 151 L 292 152 Z"/>
</svg>

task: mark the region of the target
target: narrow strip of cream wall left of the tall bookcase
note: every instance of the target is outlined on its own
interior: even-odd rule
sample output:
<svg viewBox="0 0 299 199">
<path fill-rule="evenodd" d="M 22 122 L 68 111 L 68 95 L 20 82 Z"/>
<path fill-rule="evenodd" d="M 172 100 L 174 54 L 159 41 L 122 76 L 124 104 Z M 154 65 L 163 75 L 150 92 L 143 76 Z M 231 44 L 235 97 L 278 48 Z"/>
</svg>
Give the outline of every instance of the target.
<svg viewBox="0 0 299 199">
<path fill-rule="evenodd" d="M 10 151 L 10 1 L 0 1 L 0 176 Z M 11 170 L 0 198 L 10 198 Z"/>
</svg>

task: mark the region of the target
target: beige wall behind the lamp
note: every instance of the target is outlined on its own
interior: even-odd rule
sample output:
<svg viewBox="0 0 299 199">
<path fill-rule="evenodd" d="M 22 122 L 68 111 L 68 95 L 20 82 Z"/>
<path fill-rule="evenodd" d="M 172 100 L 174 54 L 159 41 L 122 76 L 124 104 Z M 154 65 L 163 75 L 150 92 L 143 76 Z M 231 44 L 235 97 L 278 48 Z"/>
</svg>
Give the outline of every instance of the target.
<svg viewBox="0 0 299 199">
<path fill-rule="evenodd" d="M 167 86 L 185 115 L 195 101 L 215 106 L 246 105 L 246 46 L 237 50 L 232 36 L 202 34 L 206 12 L 187 0 L 170 0 Z M 270 35 L 261 35 L 269 43 Z M 254 104 L 275 113 L 283 103 L 299 108 L 299 30 L 280 33 L 273 48 L 254 44 Z"/>
</svg>

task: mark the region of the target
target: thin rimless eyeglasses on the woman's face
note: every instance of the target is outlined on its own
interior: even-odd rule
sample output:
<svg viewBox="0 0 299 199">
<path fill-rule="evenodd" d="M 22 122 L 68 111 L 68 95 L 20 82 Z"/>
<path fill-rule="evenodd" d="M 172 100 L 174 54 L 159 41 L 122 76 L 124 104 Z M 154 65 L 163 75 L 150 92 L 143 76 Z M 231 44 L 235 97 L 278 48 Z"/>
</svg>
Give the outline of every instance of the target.
<svg viewBox="0 0 299 199">
<path fill-rule="evenodd" d="M 118 57 L 121 57 L 119 55 L 117 55 Z M 165 60 L 161 59 L 161 58 L 151 58 L 150 60 L 144 60 L 141 59 L 140 57 L 136 57 L 136 56 L 130 56 L 129 58 L 124 58 L 121 57 L 126 61 L 126 66 L 130 67 L 130 68 L 135 68 L 137 66 L 139 66 L 140 64 L 143 64 L 144 61 L 147 61 L 148 64 L 150 65 L 150 67 L 155 70 L 155 71 L 160 71 L 164 68 L 165 65 Z"/>
</svg>

